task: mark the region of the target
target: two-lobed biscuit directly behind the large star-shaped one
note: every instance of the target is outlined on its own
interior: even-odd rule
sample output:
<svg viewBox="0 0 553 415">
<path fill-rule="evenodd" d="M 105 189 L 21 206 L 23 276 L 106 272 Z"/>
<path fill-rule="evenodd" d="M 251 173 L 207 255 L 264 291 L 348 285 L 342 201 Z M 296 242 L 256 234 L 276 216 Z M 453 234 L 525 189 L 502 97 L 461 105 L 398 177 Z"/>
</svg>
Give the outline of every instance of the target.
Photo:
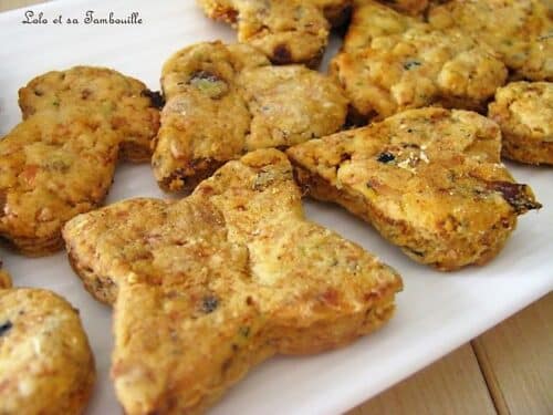
<svg viewBox="0 0 553 415">
<path fill-rule="evenodd" d="M 271 66 L 247 44 L 199 43 L 164 66 L 167 103 L 152 158 L 159 186 L 191 190 L 225 162 L 332 134 L 347 101 L 330 77 Z"/>
</svg>

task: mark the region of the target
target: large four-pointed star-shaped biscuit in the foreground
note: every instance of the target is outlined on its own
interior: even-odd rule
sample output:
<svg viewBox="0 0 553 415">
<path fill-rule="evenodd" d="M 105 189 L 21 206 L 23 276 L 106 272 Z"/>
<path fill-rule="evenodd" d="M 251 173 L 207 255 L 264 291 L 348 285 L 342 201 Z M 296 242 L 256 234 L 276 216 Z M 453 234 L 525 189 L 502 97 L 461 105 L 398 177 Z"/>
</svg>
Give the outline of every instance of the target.
<svg viewBox="0 0 553 415">
<path fill-rule="evenodd" d="M 275 353 L 316 353 L 387 321 L 401 280 L 307 221 L 275 149 L 179 201 L 134 199 L 64 228 L 71 261 L 115 303 L 112 376 L 126 414 L 205 409 Z"/>
</svg>

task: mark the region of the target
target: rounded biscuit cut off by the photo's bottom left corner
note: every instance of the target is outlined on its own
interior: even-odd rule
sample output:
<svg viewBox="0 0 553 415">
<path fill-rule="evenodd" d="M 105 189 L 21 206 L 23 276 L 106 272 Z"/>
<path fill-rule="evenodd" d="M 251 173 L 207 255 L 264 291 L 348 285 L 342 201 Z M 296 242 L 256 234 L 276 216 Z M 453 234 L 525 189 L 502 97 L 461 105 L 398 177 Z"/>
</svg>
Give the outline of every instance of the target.
<svg viewBox="0 0 553 415">
<path fill-rule="evenodd" d="M 0 413 L 81 414 L 95 382 L 79 312 L 53 292 L 0 289 Z"/>
</svg>

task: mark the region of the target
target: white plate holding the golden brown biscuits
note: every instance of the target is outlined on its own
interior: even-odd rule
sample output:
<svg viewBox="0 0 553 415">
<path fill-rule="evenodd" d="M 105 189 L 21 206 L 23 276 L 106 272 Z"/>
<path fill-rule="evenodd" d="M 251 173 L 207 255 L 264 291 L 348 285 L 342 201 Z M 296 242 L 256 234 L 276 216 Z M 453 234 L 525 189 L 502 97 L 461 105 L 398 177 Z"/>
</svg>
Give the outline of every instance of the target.
<svg viewBox="0 0 553 415">
<path fill-rule="evenodd" d="M 25 10 L 44 12 L 48 24 L 23 24 Z M 133 11 L 139 25 L 86 25 L 98 17 Z M 77 18 L 81 24 L 52 20 Z M 20 121 L 18 89 L 38 74 L 75 64 L 105 65 L 157 90 L 163 62 L 194 42 L 234 40 L 225 24 L 205 18 L 194 0 L 54 1 L 0 14 L 0 133 Z M 335 50 L 335 48 L 334 48 Z M 212 408 L 212 414 L 333 414 L 346 411 L 430 364 L 553 288 L 553 170 L 511 166 L 545 206 L 530 212 L 490 264 L 445 274 L 408 260 L 369 226 L 343 209 L 306 203 L 310 218 L 337 230 L 390 263 L 404 277 L 397 313 L 374 335 L 312 357 L 276 357 L 253 370 Z M 163 194 L 148 165 L 117 169 L 108 201 Z M 81 310 L 98 371 L 90 414 L 118 412 L 108 377 L 111 310 L 95 302 L 73 274 L 64 253 L 25 259 L 0 250 L 18 286 L 50 288 Z"/>
</svg>

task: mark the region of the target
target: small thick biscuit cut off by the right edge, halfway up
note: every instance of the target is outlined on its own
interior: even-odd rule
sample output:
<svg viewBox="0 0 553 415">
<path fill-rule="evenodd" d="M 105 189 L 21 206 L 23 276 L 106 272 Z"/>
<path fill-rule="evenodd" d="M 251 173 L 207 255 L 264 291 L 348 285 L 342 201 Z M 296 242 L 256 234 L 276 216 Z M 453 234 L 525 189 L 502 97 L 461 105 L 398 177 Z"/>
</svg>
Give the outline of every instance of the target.
<svg viewBox="0 0 553 415">
<path fill-rule="evenodd" d="M 499 89 L 488 116 L 501 127 L 503 157 L 553 165 L 553 83 L 513 82 Z"/>
</svg>

